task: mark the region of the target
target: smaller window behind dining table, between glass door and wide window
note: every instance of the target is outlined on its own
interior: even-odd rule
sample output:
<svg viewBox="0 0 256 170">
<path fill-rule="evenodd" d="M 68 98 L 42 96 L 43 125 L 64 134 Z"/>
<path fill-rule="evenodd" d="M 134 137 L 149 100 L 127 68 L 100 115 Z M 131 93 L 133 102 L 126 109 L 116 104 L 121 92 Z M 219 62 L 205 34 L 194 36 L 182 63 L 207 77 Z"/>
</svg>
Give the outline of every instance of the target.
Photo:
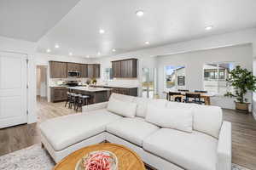
<svg viewBox="0 0 256 170">
<path fill-rule="evenodd" d="M 175 91 L 185 88 L 185 67 L 172 66 L 165 67 L 165 86 L 166 91 Z"/>
</svg>

